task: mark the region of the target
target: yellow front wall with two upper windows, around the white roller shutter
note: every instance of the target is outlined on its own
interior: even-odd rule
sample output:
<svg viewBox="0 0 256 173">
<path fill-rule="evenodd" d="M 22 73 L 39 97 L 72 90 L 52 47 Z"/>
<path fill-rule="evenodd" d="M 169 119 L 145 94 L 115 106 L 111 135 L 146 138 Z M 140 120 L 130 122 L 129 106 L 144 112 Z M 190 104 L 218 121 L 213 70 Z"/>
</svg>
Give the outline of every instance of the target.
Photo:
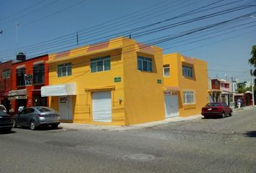
<svg viewBox="0 0 256 173">
<path fill-rule="evenodd" d="M 124 104 L 119 104 L 119 98 L 124 97 L 124 83 L 114 82 L 114 77 L 124 79 L 123 63 L 121 59 L 121 49 L 111 50 L 116 47 L 116 43 L 121 45 L 121 40 L 112 40 L 108 50 L 101 53 L 90 53 L 90 55 L 79 56 L 51 63 L 49 71 L 49 84 L 65 84 L 75 82 L 77 85 L 77 95 L 73 96 L 74 123 L 93 123 L 106 125 L 124 125 Z M 78 51 L 77 51 L 78 52 Z M 77 53 L 75 52 L 75 53 Z M 71 55 L 72 56 L 72 53 Z M 101 56 L 111 56 L 111 70 L 90 73 L 90 58 Z M 60 63 L 72 62 L 72 76 L 57 77 L 56 68 Z M 111 91 L 112 99 L 112 122 L 99 123 L 92 121 L 92 92 Z M 58 110 L 58 97 L 51 97 L 51 107 Z"/>
</svg>

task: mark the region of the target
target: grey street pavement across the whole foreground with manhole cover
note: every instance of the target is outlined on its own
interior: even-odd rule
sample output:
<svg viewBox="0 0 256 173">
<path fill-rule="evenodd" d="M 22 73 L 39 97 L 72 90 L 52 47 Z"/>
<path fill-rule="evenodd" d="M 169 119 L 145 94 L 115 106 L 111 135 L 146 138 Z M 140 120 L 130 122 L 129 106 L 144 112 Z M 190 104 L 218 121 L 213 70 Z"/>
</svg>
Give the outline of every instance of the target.
<svg viewBox="0 0 256 173">
<path fill-rule="evenodd" d="M 256 172 L 256 109 L 225 119 L 110 131 L 15 128 L 0 172 Z"/>
</svg>

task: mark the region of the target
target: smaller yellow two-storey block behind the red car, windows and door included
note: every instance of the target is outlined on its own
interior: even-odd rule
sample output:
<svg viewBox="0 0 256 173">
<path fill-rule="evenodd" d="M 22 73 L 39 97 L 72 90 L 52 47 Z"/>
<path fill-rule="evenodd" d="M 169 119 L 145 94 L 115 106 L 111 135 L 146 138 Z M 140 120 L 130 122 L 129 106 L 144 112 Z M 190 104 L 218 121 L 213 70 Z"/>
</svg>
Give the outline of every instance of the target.
<svg viewBox="0 0 256 173">
<path fill-rule="evenodd" d="M 208 102 L 208 63 L 180 53 L 163 55 L 166 117 L 200 115 Z"/>
</svg>

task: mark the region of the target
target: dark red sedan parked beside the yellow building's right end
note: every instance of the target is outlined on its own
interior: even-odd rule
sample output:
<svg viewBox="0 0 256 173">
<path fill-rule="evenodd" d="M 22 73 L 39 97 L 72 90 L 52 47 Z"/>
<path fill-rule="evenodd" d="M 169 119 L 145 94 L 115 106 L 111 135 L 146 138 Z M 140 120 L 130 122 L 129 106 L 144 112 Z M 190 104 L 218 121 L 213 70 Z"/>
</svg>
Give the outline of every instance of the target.
<svg viewBox="0 0 256 173">
<path fill-rule="evenodd" d="M 201 114 L 205 118 L 210 116 L 221 116 L 224 118 L 226 115 L 232 116 L 232 110 L 226 103 L 210 102 L 205 107 L 202 107 Z"/>
</svg>

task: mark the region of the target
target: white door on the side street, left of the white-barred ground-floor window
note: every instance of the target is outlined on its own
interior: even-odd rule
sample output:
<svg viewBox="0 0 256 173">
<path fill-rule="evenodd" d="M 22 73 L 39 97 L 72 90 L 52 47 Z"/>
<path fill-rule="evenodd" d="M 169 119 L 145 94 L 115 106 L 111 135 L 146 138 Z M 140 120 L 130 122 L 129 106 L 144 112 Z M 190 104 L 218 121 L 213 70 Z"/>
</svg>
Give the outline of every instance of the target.
<svg viewBox="0 0 256 173">
<path fill-rule="evenodd" d="M 177 92 L 164 92 L 164 101 L 166 117 L 173 117 L 179 115 Z"/>
</svg>

